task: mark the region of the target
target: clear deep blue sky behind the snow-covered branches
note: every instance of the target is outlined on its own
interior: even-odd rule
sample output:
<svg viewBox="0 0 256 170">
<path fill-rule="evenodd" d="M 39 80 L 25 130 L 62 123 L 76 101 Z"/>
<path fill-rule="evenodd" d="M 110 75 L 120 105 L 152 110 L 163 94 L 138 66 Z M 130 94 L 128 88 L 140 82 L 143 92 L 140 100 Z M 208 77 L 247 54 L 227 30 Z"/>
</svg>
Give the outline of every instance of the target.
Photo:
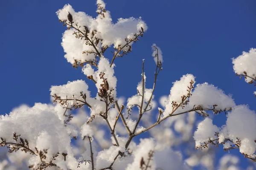
<svg viewBox="0 0 256 170">
<path fill-rule="evenodd" d="M 105 0 L 113 22 L 120 17 L 142 17 L 148 31 L 133 45 L 128 56 L 118 58 L 117 93 L 136 93 L 145 59 L 147 88 L 154 79 L 151 45 L 163 51 L 163 71 L 157 80 L 156 98 L 168 95 L 172 82 L 193 74 L 197 83 L 208 82 L 232 94 L 236 104 L 256 110 L 255 87 L 233 72 L 231 58 L 256 48 L 256 1 L 254 0 Z M 49 103 L 51 85 L 84 79 L 81 69 L 64 58 L 61 36 L 65 28 L 55 12 L 70 3 L 76 11 L 96 17 L 94 0 L 0 1 L 0 114 L 26 103 Z M 108 55 L 109 54 L 109 55 Z M 111 52 L 105 53 L 111 57 Z M 89 86 L 93 84 L 87 81 Z M 96 88 L 91 91 L 95 92 Z M 222 125 L 224 115 L 215 116 Z M 218 148 L 220 154 L 223 152 Z M 237 151 L 231 151 L 240 156 Z M 243 166 L 247 159 L 240 156 Z"/>
</svg>

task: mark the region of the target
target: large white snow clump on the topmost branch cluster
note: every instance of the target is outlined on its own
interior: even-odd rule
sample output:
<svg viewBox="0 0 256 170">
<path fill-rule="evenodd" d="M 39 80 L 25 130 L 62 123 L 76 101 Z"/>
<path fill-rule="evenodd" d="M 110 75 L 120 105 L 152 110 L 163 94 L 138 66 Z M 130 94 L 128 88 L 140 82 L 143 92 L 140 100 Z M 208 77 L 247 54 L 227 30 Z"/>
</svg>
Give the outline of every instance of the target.
<svg viewBox="0 0 256 170">
<path fill-rule="evenodd" d="M 97 1 L 97 3 L 100 4 L 100 7 L 105 8 L 105 3 L 103 3 L 102 0 Z M 67 4 L 62 9 L 59 9 L 56 14 L 59 20 L 67 20 L 67 23 L 71 24 L 67 18 L 67 15 L 70 13 L 73 17 L 73 26 L 75 28 L 78 27 L 83 33 L 85 33 L 84 26 L 86 26 L 88 29 L 88 37 L 92 37 L 93 30 L 96 30 L 97 32 L 94 36 L 99 38 L 101 41 L 101 43 L 95 45 L 98 51 L 100 51 L 101 47 L 110 47 L 111 45 L 114 45 L 115 47 L 118 47 L 118 45 L 123 46 L 126 44 L 126 38 L 128 40 L 133 39 L 135 37 L 134 34 L 140 34 L 140 31 L 142 31 L 141 28 L 143 28 L 144 31 L 148 28 L 141 18 L 119 18 L 117 23 L 113 23 L 109 11 L 102 11 L 101 9 L 98 9 L 97 12 L 104 13 L 104 17 L 99 14 L 96 18 L 93 18 L 84 12 L 75 12 L 72 6 Z M 96 52 L 96 50 L 92 45 L 85 44 L 84 38 L 82 40 L 76 38 L 75 35 L 73 35 L 74 31 L 77 30 L 71 28 L 63 34 L 61 45 L 66 53 L 64 57 L 71 64 L 75 64 L 75 59 L 78 62 L 93 61 L 96 54 L 83 54 L 83 51 Z M 133 42 L 129 45 L 132 45 L 132 43 Z M 128 50 L 128 47 L 124 47 L 122 49 L 122 51 L 125 50 Z"/>
</svg>

